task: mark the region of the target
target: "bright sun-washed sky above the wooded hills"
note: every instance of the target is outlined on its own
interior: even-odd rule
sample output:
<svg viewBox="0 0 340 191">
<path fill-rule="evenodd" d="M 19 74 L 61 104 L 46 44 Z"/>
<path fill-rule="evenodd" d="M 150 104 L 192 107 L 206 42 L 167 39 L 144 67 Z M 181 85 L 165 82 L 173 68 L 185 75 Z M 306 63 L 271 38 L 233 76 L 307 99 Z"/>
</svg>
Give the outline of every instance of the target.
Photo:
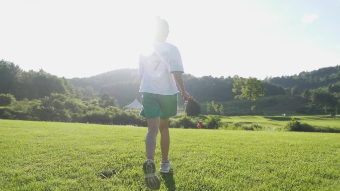
<svg viewBox="0 0 340 191">
<path fill-rule="evenodd" d="M 0 60 L 66 78 L 138 68 L 156 15 L 196 77 L 340 64 L 340 0 L 1 0 Z"/>
</svg>

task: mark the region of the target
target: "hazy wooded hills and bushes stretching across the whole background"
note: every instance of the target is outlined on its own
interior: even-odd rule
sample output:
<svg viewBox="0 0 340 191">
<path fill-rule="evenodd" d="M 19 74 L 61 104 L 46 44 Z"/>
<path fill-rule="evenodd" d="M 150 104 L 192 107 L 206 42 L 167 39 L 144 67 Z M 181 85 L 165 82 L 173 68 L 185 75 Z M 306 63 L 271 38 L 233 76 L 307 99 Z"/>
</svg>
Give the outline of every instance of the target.
<svg viewBox="0 0 340 191">
<path fill-rule="evenodd" d="M 206 106 L 210 102 L 211 105 L 213 101 L 218 102 L 221 115 L 252 115 L 252 108 L 255 108 L 255 115 L 278 115 L 283 112 L 282 104 L 289 106 L 284 109 L 285 113 L 333 115 L 340 106 L 338 65 L 262 81 L 251 77 L 195 77 L 190 74 L 184 74 L 183 78 L 186 90 L 202 108 L 208 108 Z M 250 98 L 244 94 L 249 91 L 247 81 L 252 84 L 249 81 L 253 79 L 266 92 L 259 102 L 258 98 L 252 98 L 256 100 L 253 102 L 255 105 L 246 100 Z M 244 82 L 243 86 L 234 83 L 240 81 Z M 238 88 L 234 85 L 241 87 L 244 100 L 235 100 L 236 93 L 240 94 L 235 91 Z M 103 119 L 111 119 L 109 116 L 114 110 L 117 119 L 128 119 L 121 118 L 128 114 L 118 111 L 118 108 L 141 98 L 139 86 L 138 69 L 118 69 L 87 78 L 66 79 L 43 69 L 24 71 L 14 63 L 0 60 L 0 118 L 102 123 Z M 290 98 L 294 99 L 289 101 Z M 291 103 L 294 105 L 288 105 Z M 209 114 L 208 109 L 203 112 Z M 130 117 L 137 120 L 135 124 L 142 124 L 138 116 Z M 122 123 L 121 120 L 119 123 Z"/>
</svg>

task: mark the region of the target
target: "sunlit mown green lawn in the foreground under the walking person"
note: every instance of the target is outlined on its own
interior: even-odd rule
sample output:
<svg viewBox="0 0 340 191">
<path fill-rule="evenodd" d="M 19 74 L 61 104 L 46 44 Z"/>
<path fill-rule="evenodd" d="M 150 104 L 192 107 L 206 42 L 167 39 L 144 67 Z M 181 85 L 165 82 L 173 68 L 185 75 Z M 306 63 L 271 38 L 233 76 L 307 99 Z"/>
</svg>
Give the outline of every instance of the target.
<svg viewBox="0 0 340 191">
<path fill-rule="evenodd" d="M 0 120 L 0 190 L 148 190 L 146 130 Z M 161 191 L 340 190 L 339 133 L 172 128 L 170 136 L 173 168 Z M 157 168 L 160 158 L 157 147 Z"/>
</svg>

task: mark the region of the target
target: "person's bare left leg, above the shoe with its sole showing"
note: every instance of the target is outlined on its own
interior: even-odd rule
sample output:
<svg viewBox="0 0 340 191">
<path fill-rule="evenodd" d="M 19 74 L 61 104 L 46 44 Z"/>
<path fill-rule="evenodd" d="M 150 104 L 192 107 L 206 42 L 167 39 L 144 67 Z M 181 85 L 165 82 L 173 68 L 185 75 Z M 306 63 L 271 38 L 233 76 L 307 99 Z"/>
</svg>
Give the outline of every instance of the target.
<svg viewBox="0 0 340 191">
<path fill-rule="evenodd" d="M 154 160 L 156 150 L 156 137 L 158 134 L 158 127 L 160 124 L 159 118 L 147 119 L 148 132 L 145 137 L 145 147 L 147 159 Z"/>
</svg>

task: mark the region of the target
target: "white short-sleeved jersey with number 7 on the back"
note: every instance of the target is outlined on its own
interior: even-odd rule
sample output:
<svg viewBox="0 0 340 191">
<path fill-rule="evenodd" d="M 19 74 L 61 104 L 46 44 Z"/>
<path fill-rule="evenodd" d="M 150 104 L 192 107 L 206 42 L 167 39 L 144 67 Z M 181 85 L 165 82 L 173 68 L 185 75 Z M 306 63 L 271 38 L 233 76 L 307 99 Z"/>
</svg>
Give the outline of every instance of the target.
<svg viewBox="0 0 340 191">
<path fill-rule="evenodd" d="M 151 55 L 139 57 L 140 92 L 173 95 L 178 93 L 172 71 L 184 72 L 177 47 L 167 42 L 154 42 Z"/>
</svg>

